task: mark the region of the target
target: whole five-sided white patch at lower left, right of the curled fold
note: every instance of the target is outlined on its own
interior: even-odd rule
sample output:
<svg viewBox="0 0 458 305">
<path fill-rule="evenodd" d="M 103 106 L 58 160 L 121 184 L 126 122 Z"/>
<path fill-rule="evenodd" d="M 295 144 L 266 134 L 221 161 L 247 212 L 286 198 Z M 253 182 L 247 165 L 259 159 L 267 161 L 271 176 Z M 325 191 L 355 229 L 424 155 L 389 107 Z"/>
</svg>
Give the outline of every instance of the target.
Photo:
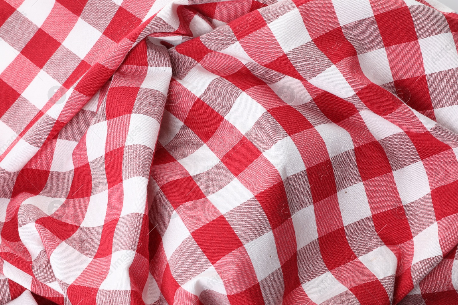
<svg viewBox="0 0 458 305">
<path fill-rule="evenodd" d="M 73 283 L 91 261 L 92 258 L 82 255 L 64 241 L 55 248 L 49 257 L 55 277 L 67 284 Z"/>
</svg>

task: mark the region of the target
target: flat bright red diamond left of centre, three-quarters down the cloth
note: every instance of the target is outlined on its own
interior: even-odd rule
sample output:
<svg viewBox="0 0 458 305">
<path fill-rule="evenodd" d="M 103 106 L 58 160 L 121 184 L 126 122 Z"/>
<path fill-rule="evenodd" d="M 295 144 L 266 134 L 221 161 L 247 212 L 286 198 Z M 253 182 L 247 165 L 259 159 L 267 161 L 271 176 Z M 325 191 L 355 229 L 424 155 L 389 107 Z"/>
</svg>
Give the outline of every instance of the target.
<svg viewBox="0 0 458 305">
<path fill-rule="evenodd" d="M 212 264 L 243 246 L 223 215 L 192 232 L 192 237 Z"/>
</svg>

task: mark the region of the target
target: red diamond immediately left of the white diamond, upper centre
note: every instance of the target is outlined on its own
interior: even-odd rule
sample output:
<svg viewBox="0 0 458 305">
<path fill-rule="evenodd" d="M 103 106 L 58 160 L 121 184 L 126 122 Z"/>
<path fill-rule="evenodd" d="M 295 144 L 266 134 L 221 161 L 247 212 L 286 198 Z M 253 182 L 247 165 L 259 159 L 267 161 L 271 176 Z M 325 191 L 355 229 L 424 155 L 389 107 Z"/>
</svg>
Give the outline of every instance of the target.
<svg viewBox="0 0 458 305">
<path fill-rule="evenodd" d="M 216 132 L 223 119 L 221 114 L 198 98 L 185 119 L 185 125 L 206 143 Z"/>
</svg>

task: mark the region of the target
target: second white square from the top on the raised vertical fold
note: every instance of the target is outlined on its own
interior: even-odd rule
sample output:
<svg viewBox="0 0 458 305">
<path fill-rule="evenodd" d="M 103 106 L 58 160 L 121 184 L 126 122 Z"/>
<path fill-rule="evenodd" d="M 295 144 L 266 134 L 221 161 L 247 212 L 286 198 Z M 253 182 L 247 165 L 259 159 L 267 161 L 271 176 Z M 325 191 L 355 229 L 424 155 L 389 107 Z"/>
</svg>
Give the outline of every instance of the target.
<svg viewBox="0 0 458 305">
<path fill-rule="evenodd" d="M 132 113 L 125 145 L 145 145 L 154 151 L 159 134 L 159 122 L 144 114 Z"/>
</svg>

